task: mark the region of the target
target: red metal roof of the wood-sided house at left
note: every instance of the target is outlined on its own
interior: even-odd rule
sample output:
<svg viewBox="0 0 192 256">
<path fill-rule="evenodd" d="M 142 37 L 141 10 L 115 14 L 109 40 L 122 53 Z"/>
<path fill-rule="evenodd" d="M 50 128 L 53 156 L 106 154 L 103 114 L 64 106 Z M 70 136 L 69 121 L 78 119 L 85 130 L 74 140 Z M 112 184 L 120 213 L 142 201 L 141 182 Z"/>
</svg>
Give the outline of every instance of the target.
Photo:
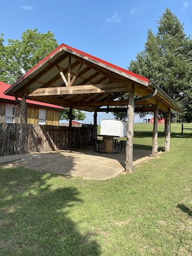
<svg viewBox="0 0 192 256">
<path fill-rule="evenodd" d="M 10 88 L 10 85 L 8 85 L 7 83 L 4 83 L 3 81 L 0 81 L 0 99 L 16 101 L 15 97 L 8 96 L 8 95 L 4 94 L 4 92 L 9 88 Z M 19 99 L 19 100 L 21 100 L 21 99 Z M 49 104 L 49 103 L 43 103 L 43 102 L 40 102 L 40 101 L 26 100 L 26 102 L 28 104 L 39 105 L 41 107 L 49 107 L 49 108 L 52 108 L 52 109 L 63 109 L 63 107 L 61 107 L 61 106 L 53 105 L 53 104 Z"/>
</svg>

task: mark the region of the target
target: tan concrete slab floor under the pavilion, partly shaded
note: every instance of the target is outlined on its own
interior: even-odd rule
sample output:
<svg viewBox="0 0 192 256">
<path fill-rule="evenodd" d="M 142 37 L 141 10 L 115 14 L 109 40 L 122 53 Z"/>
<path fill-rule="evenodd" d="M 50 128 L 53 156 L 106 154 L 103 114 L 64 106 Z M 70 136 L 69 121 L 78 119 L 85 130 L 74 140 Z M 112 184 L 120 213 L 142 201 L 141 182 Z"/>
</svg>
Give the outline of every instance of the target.
<svg viewBox="0 0 192 256">
<path fill-rule="evenodd" d="M 134 149 L 133 165 L 150 158 L 151 151 Z M 125 171 L 125 152 L 98 153 L 92 149 L 48 151 L 25 155 L 0 156 L 1 167 L 27 167 L 36 171 L 107 180 Z"/>
</svg>

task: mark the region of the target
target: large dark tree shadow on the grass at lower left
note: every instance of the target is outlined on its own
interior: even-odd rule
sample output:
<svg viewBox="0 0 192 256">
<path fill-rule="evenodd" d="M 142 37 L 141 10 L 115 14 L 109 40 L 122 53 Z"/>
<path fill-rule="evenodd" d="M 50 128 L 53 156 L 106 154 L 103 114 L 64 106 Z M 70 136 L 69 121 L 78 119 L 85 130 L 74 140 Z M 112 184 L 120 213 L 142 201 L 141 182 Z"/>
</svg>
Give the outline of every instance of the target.
<svg viewBox="0 0 192 256">
<path fill-rule="evenodd" d="M 70 218 L 76 204 L 83 203 L 78 189 L 67 182 L 57 186 L 58 176 L 65 178 L 0 169 L 2 255 L 100 255 L 96 234 L 82 234 Z"/>
</svg>

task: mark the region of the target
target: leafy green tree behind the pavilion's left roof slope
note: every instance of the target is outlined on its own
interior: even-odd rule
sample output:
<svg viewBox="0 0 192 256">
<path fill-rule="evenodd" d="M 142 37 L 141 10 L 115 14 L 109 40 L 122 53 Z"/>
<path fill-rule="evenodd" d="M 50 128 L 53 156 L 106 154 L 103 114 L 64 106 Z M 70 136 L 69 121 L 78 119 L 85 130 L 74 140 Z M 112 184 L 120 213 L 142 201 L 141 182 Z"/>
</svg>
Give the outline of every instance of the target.
<svg viewBox="0 0 192 256">
<path fill-rule="evenodd" d="M 27 29 L 21 40 L 8 39 L 6 45 L 3 36 L 4 34 L 0 34 L 0 81 L 10 85 L 58 47 L 54 34 L 50 31 L 41 34 L 37 28 Z M 76 109 L 73 109 L 72 114 L 74 120 L 85 119 L 85 114 Z M 63 119 L 69 119 L 68 109 L 62 112 L 61 120 Z"/>
</svg>

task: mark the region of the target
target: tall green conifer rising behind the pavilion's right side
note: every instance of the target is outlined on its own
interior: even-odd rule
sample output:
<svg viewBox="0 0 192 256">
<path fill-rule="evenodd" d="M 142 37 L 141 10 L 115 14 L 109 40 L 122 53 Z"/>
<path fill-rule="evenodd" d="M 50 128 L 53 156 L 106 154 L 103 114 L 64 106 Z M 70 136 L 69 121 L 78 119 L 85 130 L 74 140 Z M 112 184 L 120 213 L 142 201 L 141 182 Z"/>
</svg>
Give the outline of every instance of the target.
<svg viewBox="0 0 192 256">
<path fill-rule="evenodd" d="M 148 31 L 145 49 L 136 54 L 129 70 L 154 81 L 185 109 L 186 98 L 189 99 L 186 93 L 191 90 L 191 38 L 186 36 L 183 25 L 168 8 L 157 28 L 156 35 Z M 184 113 L 182 118 L 186 119 Z"/>
</svg>

